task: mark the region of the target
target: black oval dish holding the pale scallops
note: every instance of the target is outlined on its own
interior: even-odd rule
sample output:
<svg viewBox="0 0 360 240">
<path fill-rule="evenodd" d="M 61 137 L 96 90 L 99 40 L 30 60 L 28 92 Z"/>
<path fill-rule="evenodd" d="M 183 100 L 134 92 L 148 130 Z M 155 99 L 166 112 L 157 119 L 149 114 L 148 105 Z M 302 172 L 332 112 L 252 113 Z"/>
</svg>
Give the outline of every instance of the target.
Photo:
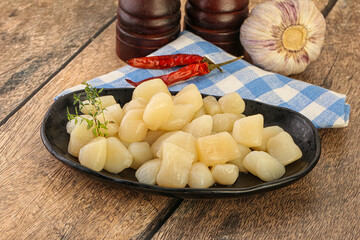
<svg viewBox="0 0 360 240">
<path fill-rule="evenodd" d="M 132 92 L 132 88 L 104 89 L 102 95 L 113 95 L 117 102 L 124 105 L 131 99 Z M 77 91 L 76 93 L 82 93 L 84 96 L 84 91 Z M 71 167 L 133 190 L 148 191 L 171 197 L 224 198 L 244 196 L 284 187 L 308 174 L 318 162 L 321 152 L 319 133 L 314 125 L 295 111 L 252 100 L 245 100 L 245 102 L 245 115 L 263 114 L 265 126 L 279 125 L 282 127 L 290 133 L 303 152 L 303 157 L 286 166 L 285 175 L 276 181 L 263 182 L 251 174 L 240 173 L 237 181 L 231 186 L 215 185 L 207 189 L 165 188 L 139 183 L 135 178 L 133 169 L 125 169 L 119 174 L 112 174 L 104 170 L 101 172 L 93 171 L 80 165 L 78 159 L 67 152 L 69 134 L 66 132 L 66 108 L 69 107 L 70 112 L 74 112 L 73 93 L 59 98 L 52 104 L 41 126 L 41 138 L 51 154 Z"/>
</svg>

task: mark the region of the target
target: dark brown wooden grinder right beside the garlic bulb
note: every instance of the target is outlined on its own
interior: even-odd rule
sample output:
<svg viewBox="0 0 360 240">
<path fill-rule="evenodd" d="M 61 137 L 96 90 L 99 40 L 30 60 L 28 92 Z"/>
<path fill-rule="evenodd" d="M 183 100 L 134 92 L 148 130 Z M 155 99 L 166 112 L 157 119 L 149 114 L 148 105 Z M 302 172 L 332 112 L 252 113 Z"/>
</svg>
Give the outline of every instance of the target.
<svg viewBox="0 0 360 240">
<path fill-rule="evenodd" d="M 249 0 L 188 0 L 185 29 L 240 56 L 240 26 L 249 14 Z"/>
</svg>

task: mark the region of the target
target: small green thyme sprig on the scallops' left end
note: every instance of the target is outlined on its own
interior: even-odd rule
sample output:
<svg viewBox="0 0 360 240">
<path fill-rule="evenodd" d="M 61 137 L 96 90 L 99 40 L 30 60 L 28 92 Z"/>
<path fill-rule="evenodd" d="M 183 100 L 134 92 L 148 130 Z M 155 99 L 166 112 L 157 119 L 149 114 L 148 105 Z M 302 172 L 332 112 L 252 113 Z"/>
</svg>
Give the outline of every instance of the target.
<svg viewBox="0 0 360 240">
<path fill-rule="evenodd" d="M 103 91 L 102 89 L 97 89 L 90 84 L 84 82 L 85 85 L 85 100 L 80 100 L 80 94 L 74 94 L 74 105 L 79 104 L 79 110 L 82 111 L 86 109 L 88 114 L 90 115 L 89 118 L 79 115 L 77 107 L 75 107 L 75 114 L 71 114 L 69 112 L 69 108 L 67 108 L 67 119 L 71 121 L 75 119 L 75 124 L 78 123 L 79 119 L 81 123 L 85 121 L 87 123 L 87 129 L 92 129 L 92 133 L 95 137 L 104 136 L 106 137 L 108 133 L 105 131 L 108 130 L 107 125 L 112 123 L 112 121 L 106 121 L 104 111 L 106 110 L 102 106 L 102 102 L 100 99 L 99 94 Z M 99 117 L 104 119 L 104 122 L 101 122 Z"/>
</svg>

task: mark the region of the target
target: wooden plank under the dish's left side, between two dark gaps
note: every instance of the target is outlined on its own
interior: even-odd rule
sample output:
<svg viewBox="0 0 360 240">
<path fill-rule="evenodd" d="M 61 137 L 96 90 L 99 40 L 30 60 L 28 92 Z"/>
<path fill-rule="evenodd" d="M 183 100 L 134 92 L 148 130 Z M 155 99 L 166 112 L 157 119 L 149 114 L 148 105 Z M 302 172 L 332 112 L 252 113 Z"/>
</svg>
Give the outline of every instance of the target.
<svg viewBox="0 0 360 240">
<path fill-rule="evenodd" d="M 124 65 L 114 33 L 115 23 L 0 127 L 1 239 L 141 239 L 177 203 L 73 170 L 41 142 L 41 121 L 58 93 Z"/>
</svg>

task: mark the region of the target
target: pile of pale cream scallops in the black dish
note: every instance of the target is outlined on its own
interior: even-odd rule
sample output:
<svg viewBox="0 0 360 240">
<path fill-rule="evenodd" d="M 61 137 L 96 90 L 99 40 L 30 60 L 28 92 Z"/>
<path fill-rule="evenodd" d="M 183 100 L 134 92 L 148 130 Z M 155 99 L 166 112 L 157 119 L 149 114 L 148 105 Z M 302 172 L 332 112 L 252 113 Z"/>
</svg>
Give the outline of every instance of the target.
<svg viewBox="0 0 360 240">
<path fill-rule="evenodd" d="M 141 183 L 208 188 L 232 185 L 240 172 L 276 180 L 302 156 L 282 128 L 264 128 L 261 114 L 243 115 L 245 102 L 237 93 L 202 98 L 190 84 L 172 96 L 154 79 L 135 88 L 122 108 L 113 96 L 101 102 L 109 122 L 106 137 L 95 137 L 86 121 L 73 119 L 66 126 L 68 152 L 95 171 L 132 168 Z"/>
</svg>

